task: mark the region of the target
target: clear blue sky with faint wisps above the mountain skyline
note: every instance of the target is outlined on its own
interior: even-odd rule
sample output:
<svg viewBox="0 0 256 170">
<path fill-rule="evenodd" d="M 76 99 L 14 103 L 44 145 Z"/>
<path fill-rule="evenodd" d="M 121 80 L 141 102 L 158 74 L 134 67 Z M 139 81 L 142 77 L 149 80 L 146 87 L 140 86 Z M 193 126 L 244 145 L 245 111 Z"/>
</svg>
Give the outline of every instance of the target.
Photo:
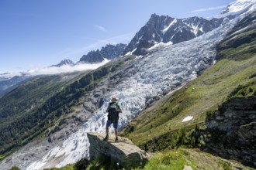
<svg viewBox="0 0 256 170">
<path fill-rule="evenodd" d="M 210 17 L 234 0 L 0 0 L 0 73 L 128 43 L 150 15 Z"/>
</svg>

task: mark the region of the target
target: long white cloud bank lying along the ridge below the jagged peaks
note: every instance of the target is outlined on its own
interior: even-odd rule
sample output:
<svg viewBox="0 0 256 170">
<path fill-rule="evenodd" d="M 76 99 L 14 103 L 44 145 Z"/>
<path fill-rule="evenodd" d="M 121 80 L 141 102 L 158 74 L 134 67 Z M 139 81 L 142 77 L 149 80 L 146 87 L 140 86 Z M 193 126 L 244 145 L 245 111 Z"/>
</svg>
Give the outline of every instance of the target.
<svg viewBox="0 0 256 170">
<path fill-rule="evenodd" d="M 105 59 L 104 61 L 102 61 L 102 63 L 94 63 L 94 64 L 78 63 L 74 66 L 64 65 L 61 67 L 55 67 L 55 66 L 43 67 L 43 68 L 36 67 L 32 70 L 29 70 L 27 73 L 29 75 L 36 76 L 36 75 L 43 75 L 43 74 L 71 73 L 74 71 L 95 70 L 99 68 L 99 66 L 103 66 L 108 62 L 109 60 Z"/>
</svg>

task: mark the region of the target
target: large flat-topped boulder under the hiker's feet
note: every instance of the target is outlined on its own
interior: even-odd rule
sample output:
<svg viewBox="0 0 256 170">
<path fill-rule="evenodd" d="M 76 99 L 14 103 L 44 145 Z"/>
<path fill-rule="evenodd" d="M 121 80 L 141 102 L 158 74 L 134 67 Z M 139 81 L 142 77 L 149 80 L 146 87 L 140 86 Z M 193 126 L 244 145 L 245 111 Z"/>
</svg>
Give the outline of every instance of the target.
<svg viewBox="0 0 256 170">
<path fill-rule="evenodd" d="M 105 134 L 88 133 L 90 142 L 90 158 L 98 155 L 107 155 L 124 168 L 144 166 L 150 155 L 138 148 L 132 141 L 119 137 L 115 143 L 115 136 L 109 134 L 109 141 L 103 141 Z"/>
</svg>

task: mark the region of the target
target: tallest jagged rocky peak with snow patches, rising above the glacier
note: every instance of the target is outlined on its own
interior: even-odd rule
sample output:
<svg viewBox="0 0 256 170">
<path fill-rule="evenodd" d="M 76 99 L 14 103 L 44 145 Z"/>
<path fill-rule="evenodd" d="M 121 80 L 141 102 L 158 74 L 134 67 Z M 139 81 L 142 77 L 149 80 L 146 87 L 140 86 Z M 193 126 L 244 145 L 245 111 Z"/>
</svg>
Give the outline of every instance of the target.
<svg viewBox="0 0 256 170">
<path fill-rule="evenodd" d="M 151 15 L 149 21 L 133 37 L 124 50 L 124 54 L 132 52 L 135 55 L 147 53 L 147 49 L 159 42 L 173 44 L 194 39 L 197 36 L 219 27 L 223 19 L 203 19 L 190 17 L 175 19 L 166 15 Z"/>
</svg>

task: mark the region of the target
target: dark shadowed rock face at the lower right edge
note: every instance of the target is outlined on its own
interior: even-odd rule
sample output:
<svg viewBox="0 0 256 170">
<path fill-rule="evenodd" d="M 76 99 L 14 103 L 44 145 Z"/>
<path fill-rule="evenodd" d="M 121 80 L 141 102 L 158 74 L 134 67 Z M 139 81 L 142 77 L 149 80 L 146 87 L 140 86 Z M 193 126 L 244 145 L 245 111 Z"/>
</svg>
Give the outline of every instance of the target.
<svg viewBox="0 0 256 170">
<path fill-rule="evenodd" d="M 256 167 L 256 97 L 239 97 L 225 102 L 207 117 L 212 151 Z"/>
</svg>

